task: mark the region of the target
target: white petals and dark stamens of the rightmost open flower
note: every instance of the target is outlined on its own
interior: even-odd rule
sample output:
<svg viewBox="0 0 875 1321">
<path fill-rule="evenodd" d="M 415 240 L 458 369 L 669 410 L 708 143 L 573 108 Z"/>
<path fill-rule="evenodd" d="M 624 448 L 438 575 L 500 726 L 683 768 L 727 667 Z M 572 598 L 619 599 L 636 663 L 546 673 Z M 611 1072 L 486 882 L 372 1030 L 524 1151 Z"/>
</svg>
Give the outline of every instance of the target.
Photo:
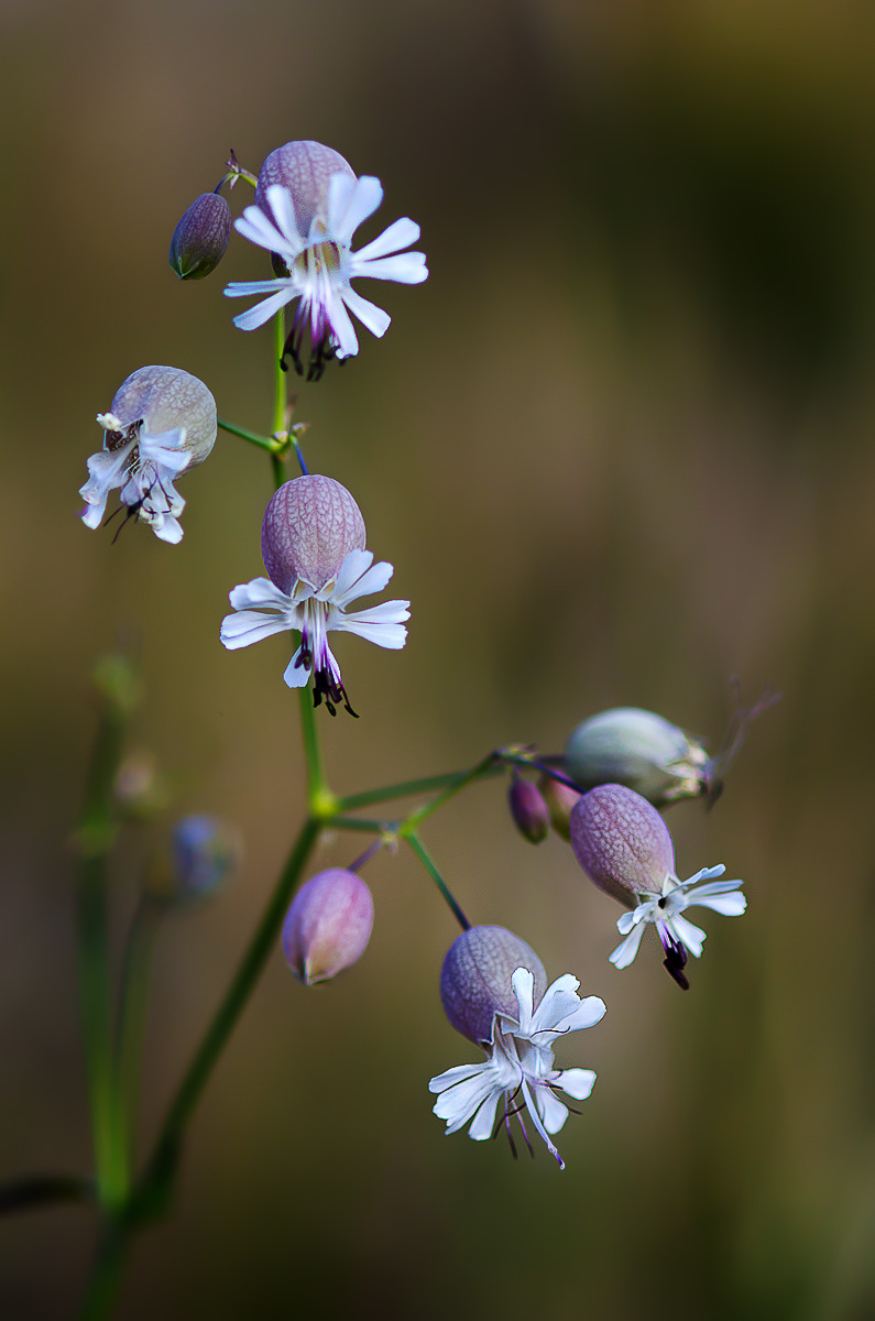
<svg viewBox="0 0 875 1321">
<path fill-rule="evenodd" d="M 662 882 L 661 896 L 638 896 L 638 906 L 617 919 L 617 930 L 625 935 L 625 941 L 611 955 L 613 966 L 625 968 L 632 963 L 638 952 L 644 927 L 648 922 L 654 922 L 666 954 L 665 966 L 674 980 L 686 989 L 689 983 L 683 975 L 683 966 L 687 950 L 698 959 L 702 954 L 704 931 L 682 917 L 683 910 L 698 904 L 701 908 L 723 913 L 724 917 L 739 917 L 747 908 L 744 896 L 739 894 L 742 881 L 698 884 L 722 876 L 724 871 L 724 867 L 703 867 L 689 881 L 678 881 L 677 876 L 669 875 Z"/>
</svg>

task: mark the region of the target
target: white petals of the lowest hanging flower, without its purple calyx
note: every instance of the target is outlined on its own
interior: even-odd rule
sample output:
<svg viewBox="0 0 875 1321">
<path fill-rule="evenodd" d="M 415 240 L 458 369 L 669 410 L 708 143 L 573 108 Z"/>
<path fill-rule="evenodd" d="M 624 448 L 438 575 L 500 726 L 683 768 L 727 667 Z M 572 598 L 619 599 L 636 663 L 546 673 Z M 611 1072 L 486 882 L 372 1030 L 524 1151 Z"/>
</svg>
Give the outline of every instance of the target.
<svg viewBox="0 0 875 1321">
<path fill-rule="evenodd" d="M 580 1000 L 580 985 L 566 974 L 547 988 L 534 1008 L 534 976 L 517 968 L 512 978 L 517 999 L 515 1018 L 496 1013 L 492 1049 L 485 1063 L 461 1065 L 432 1078 L 428 1090 L 438 1094 L 435 1114 L 447 1120 L 447 1133 L 457 1132 L 471 1119 L 468 1133 L 477 1141 L 492 1136 L 498 1102 L 504 1099 L 504 1123 L 510 1137 L 510 1118 L 525 1107 L 550 1152 L 564 1169 L 559 1152 L 550 1141 L 568 1118 L 568 1107 L 556 1092 L 586 1100 L 596 1075 L 592 1069 L 555 1069 L 552 1042 L 567 1032 L 591 1028 L 605 1012 L 597 996 Z M 529 1143 L 521 1116 L 523 1137 Z M 513 1141 L 512 1141 L 513 1147 Z"/>
</svg>

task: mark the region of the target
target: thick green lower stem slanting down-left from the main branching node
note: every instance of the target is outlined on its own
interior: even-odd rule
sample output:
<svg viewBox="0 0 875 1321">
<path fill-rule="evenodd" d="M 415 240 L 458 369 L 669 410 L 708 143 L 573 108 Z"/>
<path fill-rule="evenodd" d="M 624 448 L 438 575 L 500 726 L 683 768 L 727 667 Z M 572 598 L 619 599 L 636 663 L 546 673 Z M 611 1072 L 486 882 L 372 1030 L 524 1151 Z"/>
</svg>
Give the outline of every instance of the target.
<svg viewBox="0 0 875 1321">
<path fill-rule="evenodd" d="M 137 1193 L 136 1206 L 133 1207 L 135 1215 L 149 1215 L 155 1214 L 156 1210 L 161 1211 L 164 1209 L 165 1197 L 173 1182 L 176 1160 L 185 1127 L 201 1099 L 210 1074 L 227 1045 L 237 1020 L 268 956 L 274 951 L 292 892 L 300 880 L 301 871 L 316 844 L 320 830 L 320 822 L 312 816 L 305 820 L 300 830 L 288 861 L 280 873 L 262 919 L 250 941 L 248 948 L 168 1110 Z"/>
</svg>

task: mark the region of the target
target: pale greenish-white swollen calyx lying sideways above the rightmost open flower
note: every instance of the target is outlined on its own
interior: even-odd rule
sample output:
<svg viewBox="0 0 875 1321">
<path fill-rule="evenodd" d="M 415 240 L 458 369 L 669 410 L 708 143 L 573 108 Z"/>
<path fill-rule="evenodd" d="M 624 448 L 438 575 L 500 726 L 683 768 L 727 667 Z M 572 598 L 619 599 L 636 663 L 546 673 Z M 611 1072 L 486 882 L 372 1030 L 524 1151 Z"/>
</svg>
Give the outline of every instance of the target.
<svg viewBox="0 0 875 1321">
<path fill-rule="evenodd" d="M 701 742 L 637 707 L 591 716 L 578 725 L 566 748 L 568 775 L 582 789 L 625 785 L 657 807 L 706 793 L 708 766 Z"/>
</svg>

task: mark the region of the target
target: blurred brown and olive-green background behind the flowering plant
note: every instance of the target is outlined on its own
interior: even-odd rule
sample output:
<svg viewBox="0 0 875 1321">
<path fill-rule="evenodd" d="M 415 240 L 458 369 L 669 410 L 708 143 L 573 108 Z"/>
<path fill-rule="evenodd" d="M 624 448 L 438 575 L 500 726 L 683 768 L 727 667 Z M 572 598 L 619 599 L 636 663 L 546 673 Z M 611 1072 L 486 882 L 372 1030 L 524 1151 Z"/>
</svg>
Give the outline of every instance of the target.
<svg viewBox="0 0 875 1321">
<path fill-rule="evenodd" d="M 260 255 L 235 240 L 190 285 L 167 266 L 229 147 L 258 169 L 329 143 L 428 254 L 426 285 L 374 291 L 386 338 L 299 388 L 311 466 L 414 602 L 404 653 L 341 639 L 338 791 L 558 752 L 619 704 L 715 745 L 731 675 L 784 691 L 715 811 L 670 815 L 682 875 L 724 861 L 749 897 L 706 918 L 687 996 L 652 941 L 608 964 L 619 910 L 514 834 L 498 782 L 428 826 L 472 919 L 608 1003 L 564 1053 L 600 1074 L 564 1173 L 431 1115 L 428 1078 L 476 1058 L 438 1000 L 455 929 L 410 855 L 381 857 L 354 971 L 305 991 L 268 967 L 119 1317 L 875 1314 L 874 24 L 856 0 L 3 0 L 3 1177 L 89 1168 L 69 839 L 119 630 L 132 749 L 247 847 L 161 934 L 144 1141 L 301 814 L 287 643 L 217 638 L 260 571 L 266 460 L 221 436 L 176 548 L 77 518 L 94 415 L 139 366 L 270 427 L 270 332 L 222 297 Z M 171 819 L 122 841 L 116 935 Z M 7 1221 L 3 1316 L 73 1314 L 93 1247 L 85 1209 Z"/>
</svg>

